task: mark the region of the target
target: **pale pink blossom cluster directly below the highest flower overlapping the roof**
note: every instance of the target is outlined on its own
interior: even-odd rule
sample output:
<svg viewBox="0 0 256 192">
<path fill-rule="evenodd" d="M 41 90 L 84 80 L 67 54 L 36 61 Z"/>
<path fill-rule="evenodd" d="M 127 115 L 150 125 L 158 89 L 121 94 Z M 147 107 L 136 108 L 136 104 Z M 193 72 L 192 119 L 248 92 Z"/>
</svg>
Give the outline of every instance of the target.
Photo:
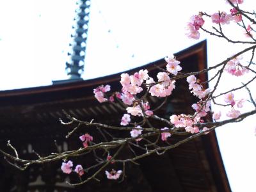
<svg viewBox="0 0 256 192">
<path fill-rule="evenodd" d="M 172 90 L 175 88 L 175 81 L 172 81 L 166 72 L 159 72 L 157 79 L 160 83 L 155 84 L 149 90 L 152 96 L 166 97 L 172 94 Z M 152 82 L 154 81 L 152 80 Z"/>
</svg>

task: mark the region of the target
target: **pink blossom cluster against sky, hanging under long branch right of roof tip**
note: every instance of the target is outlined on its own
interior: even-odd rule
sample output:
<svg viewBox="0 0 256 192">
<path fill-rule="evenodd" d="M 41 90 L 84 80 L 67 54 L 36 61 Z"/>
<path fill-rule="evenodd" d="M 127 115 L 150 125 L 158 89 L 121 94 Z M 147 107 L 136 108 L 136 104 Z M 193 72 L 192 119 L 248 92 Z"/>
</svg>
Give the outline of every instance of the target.
<svg viewBox="0 0 256 192">
<path fill-rule="evenodd" d="M 228 61 L 225 71 L 227 71 L 232 76 L 243 76 L 245 73 L 249 72 L 249 70 L 243 66 L 241 66 L 240 61 L 242 60 L 241 56 L 237 56 L 236 58 Z"/>
</svg>

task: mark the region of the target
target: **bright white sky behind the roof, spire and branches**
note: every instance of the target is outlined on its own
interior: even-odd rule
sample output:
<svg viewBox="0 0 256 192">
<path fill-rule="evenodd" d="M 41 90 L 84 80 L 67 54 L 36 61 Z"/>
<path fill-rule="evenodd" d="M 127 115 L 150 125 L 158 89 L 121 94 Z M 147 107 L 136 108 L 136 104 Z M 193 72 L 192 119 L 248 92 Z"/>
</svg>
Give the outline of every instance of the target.
<svg viewBox="0 0 256 192">
<path fill-rule="evenodd" d="M 253 0 L 244 1 L 243 6 L 255 5 Z M 205 35 L 199 41 L 189 40 L 184 35 L 184 26 L 198 11 L 214 13 L 220 8 L 226 12 L 230 9 L 225 0 L 92 0 L 84 79 L 164 58 L 206 37 L 208 65 L 218 63 L 241 46 L 230 46 Z M 65 62 L 75 9 L 74 0 L 0 1 L 0 90 L 42 86 L 67 78 Z M 239 31 L 231 30 L 233 36 L 243 37 Z M 228 79 L 221 84 L 222 91 L 246 82 L 226 77 Z M 254 89 L 252 91 L 255 93 Z M 242 97 L 247 96 L 242 92 L 236 95 L 236 99 Z M 246 107 L 249 110 L 250 105 Z M 234 192 L 256 191 L 253 118 L 255 116 L 217 130 L 221 155 Z"/>
</svg>

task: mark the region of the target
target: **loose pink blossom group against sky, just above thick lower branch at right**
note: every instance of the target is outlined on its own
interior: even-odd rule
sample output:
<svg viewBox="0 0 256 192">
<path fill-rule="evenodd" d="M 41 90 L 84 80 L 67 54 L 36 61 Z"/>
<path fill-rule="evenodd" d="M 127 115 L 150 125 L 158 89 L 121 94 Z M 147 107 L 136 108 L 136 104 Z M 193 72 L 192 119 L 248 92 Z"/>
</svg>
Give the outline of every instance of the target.
<svg viewBox="0 0 256 192">
<path fill-rule="evenodd" d="M 234 106 L 236 105 L 237 108 L 243 108 L 243 103 L 245 102 L 245 99 L 234 100 L 234 94 L 232 92 L 227 93 L 224 95 L 224 100 L 228 104 L 231 105 L 231 111 L 228 111 L 227 116 L 230 118 L 237 118 L 239 115 L 241 115 L 239 110 L 234 109 Z"/>
</svg>

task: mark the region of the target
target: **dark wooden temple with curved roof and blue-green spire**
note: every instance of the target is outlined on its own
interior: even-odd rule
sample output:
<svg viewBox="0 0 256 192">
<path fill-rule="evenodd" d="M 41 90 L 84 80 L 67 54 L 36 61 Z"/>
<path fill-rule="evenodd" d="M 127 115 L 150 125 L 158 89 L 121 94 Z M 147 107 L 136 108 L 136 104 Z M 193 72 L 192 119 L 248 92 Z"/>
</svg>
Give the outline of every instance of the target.
<svg viewBox="0 0 256 192">
<path fill-rule="evenodd" d="M 105 102 L 100 104 L 93 96 L 93 88 L 101 84 L 111 85 L 111 91 L 120 90 L 120 74 L 99 77 L 84 81 L 81 72 L 84 68 L 86 38 L 90 13 L 90 1 L 79 1 L 77 10 L 76 33 L 70 44 L 70 61 L 66 69 L 70 79 L 54 81 L 52 85 L 18 90 L 0 91 L 0 148 L 10 154 L 13 151 L 6 146 L 8 140 L 19 152 L 22 159 L 36 159 L 37 154 L 48 156 L 51 152 L 63 152 L 81 147 L 78 137 L 88 129 L 84 126 L 70 138 L 65 138 L 74 127 L 64 126 L 60 118 L 65 120 L 65 110 L 79 120 L 100 122 L 109 125 L 120 125 L 124 111 L 118 106 Z M 181 62 L 182 72 L 196 72 L 207 67 L 206 41 L 177 52 L 177 60 Z M 158 67 L 164 68 L 164 59 L 148 63 L 138 68 L 125 71 L 128 74 L 147 69 L 150 76 L 155 77 Z M 202 81 L 207 74 L 200 74 Z M 159 106 L 163 99 L 149 97 L 153 107 Z M 188 90 L 188 83 L 177 81 L 176 88 L 157 115 L 166 119 L 172 114 L 193 113 L 191 104 L 196 98 Z M 118 104 L 117 104 L 118 105 Z M 90 130 L 93 138 L 99 132 Z M 180 140 L 172 136 L 170 143 Z M 127 154 L 121 154 L 123 156 Z M 71 192 L 71 191 L 175 191 L 175 192 L 229 192 L 227 175 L 221 159 L 218 141 L 214 131 L 195 138 L 173 148 L 163 156 L 156 154 L 140 159 L 137 164 L 128 163 L 125 168 L 125 179 L 108 180 L 104 172 L 100 173 L 100 182 L 92 180 L 76 188 L 65 181 L 77 182 L 76 174 L 67 175 L 61 172 L 62 161 L 33 164 L 20 171 L 0 155 L 0 191 L 8 192 Z M 86 164 L 93 159 L 75 159 L 77 163 Z M 92 174 L 88 172 L 83 178 Z"/>
</svg>

